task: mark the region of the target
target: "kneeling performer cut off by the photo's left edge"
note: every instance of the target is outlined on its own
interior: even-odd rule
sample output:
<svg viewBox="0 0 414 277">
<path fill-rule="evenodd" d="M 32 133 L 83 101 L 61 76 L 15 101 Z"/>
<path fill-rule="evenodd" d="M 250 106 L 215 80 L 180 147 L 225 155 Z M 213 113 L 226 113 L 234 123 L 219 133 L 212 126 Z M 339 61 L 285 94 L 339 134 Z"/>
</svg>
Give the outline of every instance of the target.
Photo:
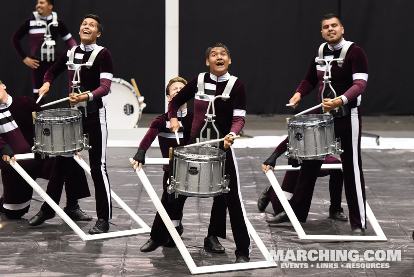
<svg viewBox="0 0 414 277">
<path fill-rule="evenodd" d="M 0 149 L 5 162 L 0 163 L 3 195 L 0 211 L 9 219 L 19 219 L 29 211 L 33 188 L 10 165 L 16 161 L 15 154 L 31 153 L 33 147 L 32 111 L 41 111 L 35 100 L 29 97 L 12 97 L 6 85 L 0 81 Z M 34 179 L 49 179 L 54 164 L 53 158 L 19 161 L 19 165 Z M 66 207 L 64 211 L 73 220 L 88 221 L 88 216 L 79 208 L 78 199 L 89 197 L 89 187 L 84 170 L 80 166 L 72 169 L 65 180 Z"/>
</svg>

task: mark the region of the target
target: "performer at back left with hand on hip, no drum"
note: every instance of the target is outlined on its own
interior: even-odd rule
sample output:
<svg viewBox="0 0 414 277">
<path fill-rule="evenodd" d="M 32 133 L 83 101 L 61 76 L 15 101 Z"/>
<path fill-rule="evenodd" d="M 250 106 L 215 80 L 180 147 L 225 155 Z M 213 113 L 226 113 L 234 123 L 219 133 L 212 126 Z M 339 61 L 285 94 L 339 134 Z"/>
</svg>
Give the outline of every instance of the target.
<svg viewBox="0 0 414 277">
<path fill-rule="evenodd" d="M 32 83 L 34 99 L 38 97 L 38 90 L 43 85 L 43 76 L 46 71 L 53 66 L 53 56 L 43 55 L 40 48 L 44 42 L 44 35 L 47 33 L 47 25 L 52 22 L 52 9 L 54 0 L 37 0 L 36 11 L 33 12 L 31 18 L 21 23 L 16 32 L 13 34 L 11 42 L 17 54 L 23 59 L 25 65 L 32 69 Z M 57 16 L 56 16 L 57 18 Z M 50 26 L 51 39 L 56 41 L 60 35 L 69 47 L 75 46 L 77 43 L 73 39 L 71 33 L 62 20 L 57 19 L 57 26 Z M 37 25 L 38 24 L 38 25 Z M 30 44 L 30 55 L 26 55 L 21 47 L 20 40 L 28 34 Z M 54 46 L 55 47 L 55 46 Z M 58 55 L 55 54 L 55 57 Z"/>
</svg>

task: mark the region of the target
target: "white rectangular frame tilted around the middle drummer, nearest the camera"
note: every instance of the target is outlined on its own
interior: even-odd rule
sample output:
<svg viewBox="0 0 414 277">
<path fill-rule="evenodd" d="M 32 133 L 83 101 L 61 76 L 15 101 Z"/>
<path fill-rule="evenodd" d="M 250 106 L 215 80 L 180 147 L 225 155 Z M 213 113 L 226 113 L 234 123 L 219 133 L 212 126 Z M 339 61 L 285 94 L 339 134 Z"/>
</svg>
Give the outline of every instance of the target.
<svg viewBox="0 0 414 277">
<path fill-rule="evenodd" d="M 151 162 L 155 164 L 168 164 L 168 159 L 146 159 L 145 164 L 148 165 Z M 138 177 L 141 180 L 141 183 L 144 185 L 146 192 L 148 193 L 152 203 L 154 203 L 155 208 L 157 209 L 158 213 L 161 216 L 162 221 L 164 222 L 165 226 L 167 227 L 168 232 L 170 233 L 171 237 L 173 238 L 175 244 L 177 245 L 178 250 L 182 258 L 184 259 L 188 269 L 190 270 L 191 274 L 205 274 L 205 273 L 215 273 L 215 272 L 226 272 L 226 271 L 235 271 L 235 270 L 247 270 L 247 269 L 258 269 L 258 268 L 270 268 L 270 267 L 277 267 L 277 264 L 274 260 L 270 260 L 270 254 L 262 240 L 257 235 L 256 231 L 254 230 L 250 221 L 247 221 L 248 224 L 248 231 L 256 245 L 258 246 L 260 252 L 265 257 L 265 261 L 255 261 L 255 262 L 247 262 L 247 263 L 230 263 L 230 264 L 219 264 L 219 265 L 208 265 L 208 266 L 197 266 L 194 263 L 193 258 L 191 258 L 190 253 L 188 252 L 186 246 L 182 242 L 180 235 L 178 234 L 176 228 L 171 222 L 170 217 L 168 216 L 164 206 L 162 205 L 160 199 L 157 196 L 154 188 L 152 187 L 151 183 L 149 182 L 148 178 L 144 173 L 144 169 L 140 171 L 136 171 Z"/>
</svg>

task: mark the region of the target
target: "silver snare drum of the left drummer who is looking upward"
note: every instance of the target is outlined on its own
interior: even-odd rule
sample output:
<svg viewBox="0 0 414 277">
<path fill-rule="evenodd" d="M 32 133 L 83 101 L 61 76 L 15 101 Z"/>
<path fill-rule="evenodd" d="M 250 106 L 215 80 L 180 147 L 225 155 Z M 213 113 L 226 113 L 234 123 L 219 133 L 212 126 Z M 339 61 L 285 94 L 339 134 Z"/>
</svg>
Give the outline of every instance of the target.
<svg viewBox="0 0 414 277">
<path fill-rule="evenodd" d="M 64 155 L 82 151 L 85 138 L 82 114 L 75 109 L 39 111 L 35 115 L 34 151 L 46 155 Z"/>
</svg>

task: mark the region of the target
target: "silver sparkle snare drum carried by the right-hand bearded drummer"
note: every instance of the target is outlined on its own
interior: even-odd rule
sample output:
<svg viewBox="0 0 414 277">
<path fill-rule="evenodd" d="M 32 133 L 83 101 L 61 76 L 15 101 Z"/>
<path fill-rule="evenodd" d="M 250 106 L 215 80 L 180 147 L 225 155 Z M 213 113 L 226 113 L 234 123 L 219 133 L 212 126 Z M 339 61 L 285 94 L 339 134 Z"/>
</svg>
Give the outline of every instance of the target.
<svg viewBox="0 0 414 277">
<path fill-rule="evenodd" d="M 334 134 L 333 117 L 328 114 L 300 115 L 289 119 L 288 152 L 297 160 L 312 160 L 342 153 Z"/>
</svg>

